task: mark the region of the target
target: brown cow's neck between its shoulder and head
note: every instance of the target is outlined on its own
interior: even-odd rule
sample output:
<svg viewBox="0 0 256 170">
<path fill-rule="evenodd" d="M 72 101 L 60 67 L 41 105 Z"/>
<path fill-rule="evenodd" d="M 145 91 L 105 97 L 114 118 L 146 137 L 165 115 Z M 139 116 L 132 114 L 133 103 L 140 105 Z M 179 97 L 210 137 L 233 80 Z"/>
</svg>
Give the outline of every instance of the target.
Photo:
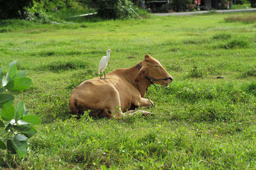
<svg viewBox="0 0 256 170">
<path fill-rule="evenodd" d="M 136 89 L 140 91 L 141 97 L 145 96 L 147 88 L 150 86 L 150 83 L 148 83 L 148 80 L 144 78 L 143 80 L 140 80 L 138 82 L 135 82 L 135 78 L 139 73 L 139 69 L 137 66 L 133 66 L 129 69 L 125 70 L 125 78 L 129 83 L 131 83 Z"/>
</svg>

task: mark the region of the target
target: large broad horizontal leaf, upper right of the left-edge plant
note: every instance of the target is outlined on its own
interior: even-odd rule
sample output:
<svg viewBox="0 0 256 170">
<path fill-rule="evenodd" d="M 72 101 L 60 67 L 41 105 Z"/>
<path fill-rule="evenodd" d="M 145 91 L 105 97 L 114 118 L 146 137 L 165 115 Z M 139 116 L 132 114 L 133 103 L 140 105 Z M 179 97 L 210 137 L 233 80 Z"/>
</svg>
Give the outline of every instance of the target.
<svg viewBox="0 0 256 170">
<path fill-rule="evenodd" d="M 29 89 L 31 82 L 30 78 L 14 78 L 8 82 L 6 89 L 11 92 L 22 92 L 23 90 Z"/>
</svg>

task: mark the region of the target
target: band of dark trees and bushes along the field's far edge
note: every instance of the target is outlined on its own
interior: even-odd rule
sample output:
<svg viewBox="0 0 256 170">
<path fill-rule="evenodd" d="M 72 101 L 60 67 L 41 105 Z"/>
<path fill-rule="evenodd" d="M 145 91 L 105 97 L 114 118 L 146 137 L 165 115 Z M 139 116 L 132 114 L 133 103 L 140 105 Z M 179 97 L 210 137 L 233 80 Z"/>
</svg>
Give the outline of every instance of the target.
<svg viewBox="0 0 256 170">
<path fill-rule="evenodd" d="M 169 3 L 152 3 L 146 0 L 0 0 L 0 19 L 22 18 L 29 21 L 61 21 L 78 14 L 92 13 L 104 19 L 127 19 L 134 17 L 133 10 L 146 8 L 151 12 L 173 12 L 173 11 L 196 11 L 197 8 L 204 9 L 204 1 L 201 6 L 196 6 L 191 0 L 170 0 Z M 214 9 L 228 9 L 227 0 L 218 0 L 212 3 Z M 255 0 L 230 1 L 232 9 L 255 7 Z"/>
</svg>

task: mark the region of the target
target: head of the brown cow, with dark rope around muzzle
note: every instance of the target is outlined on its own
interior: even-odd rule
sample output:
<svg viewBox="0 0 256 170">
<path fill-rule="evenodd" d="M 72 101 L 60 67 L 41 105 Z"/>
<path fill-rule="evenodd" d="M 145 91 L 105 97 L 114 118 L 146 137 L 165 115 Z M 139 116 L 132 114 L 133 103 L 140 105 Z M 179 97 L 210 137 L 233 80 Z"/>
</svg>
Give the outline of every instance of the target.
<svg viewBox="0 0 256 170">
<path fill-rule="evenodd" d="M 159 60 L 154 59 L 150 55 L 145 55 L 145 59 L 140 62 L 140 71 L 135 81 L 138 82 L 141 79 L 151 79 L 153 83 L 159 85 L 168 86 L 168 83 L 172 82 L 172 76 L 167 73 L 164 67 L 160 64 Z"/>
</svg>

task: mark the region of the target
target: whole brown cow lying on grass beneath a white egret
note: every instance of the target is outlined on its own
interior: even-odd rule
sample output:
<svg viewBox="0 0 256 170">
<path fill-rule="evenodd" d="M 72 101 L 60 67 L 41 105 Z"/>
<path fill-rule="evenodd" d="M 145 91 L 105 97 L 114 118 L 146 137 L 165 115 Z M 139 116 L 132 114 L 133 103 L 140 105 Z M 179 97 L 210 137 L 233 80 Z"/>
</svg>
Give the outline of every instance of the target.
<svg viewBox="0 0 256 170">
<path fill-rule="evenodd" d="M 70 112 L 76 115 L 90 110 L 91 116 L 122 117 L 124 111 L 152 106 L 143 98 L 152 83 L 168 86 L 172 76 L 150 55 L 131 68 L 111 71 L 106 79 L 86 80 L 73 89 L 69 99 Z M 113 113 L 113 115 L 109 114 Z M 129 111 L 128 113 L 132 113 Z"/>
</svg>

